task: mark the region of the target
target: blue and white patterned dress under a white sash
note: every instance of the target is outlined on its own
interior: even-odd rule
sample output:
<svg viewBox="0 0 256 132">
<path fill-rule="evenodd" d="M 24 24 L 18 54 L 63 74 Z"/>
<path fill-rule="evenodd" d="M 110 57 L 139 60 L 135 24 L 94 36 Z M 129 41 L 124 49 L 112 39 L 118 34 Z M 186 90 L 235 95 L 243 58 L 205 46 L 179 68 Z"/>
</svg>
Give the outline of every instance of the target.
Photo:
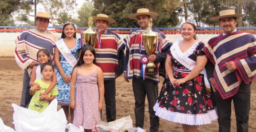
<svg viewBox="0 0 256 132">
<path fill-rule="evenodd" d="M 75 47 L 73 49 L 69 49 L 69 51 L 76 59 L 78 59 L 79 50 L 83 48 L 84 48 L 84 44 L 80 46 L 80 38 L 79 38 L 76 40 Z M 67 63 L 66 59 L 63 57 L 61 53 L 60 53 L 60 65 L 64 73 L 67 76 L 70 76 L 72 73 L 73 67 L 69 63 Z M 55 66 L 55 71 L 57 76 L 57 88 L 59 93 L 59 95 L 56 96 L 58 100 L 58 105 L 68 106 L 70 104 L 70 83 L 66 84 L 63 81 L 62 76 L 59 73 L 56 66 Z"/>
</svg>

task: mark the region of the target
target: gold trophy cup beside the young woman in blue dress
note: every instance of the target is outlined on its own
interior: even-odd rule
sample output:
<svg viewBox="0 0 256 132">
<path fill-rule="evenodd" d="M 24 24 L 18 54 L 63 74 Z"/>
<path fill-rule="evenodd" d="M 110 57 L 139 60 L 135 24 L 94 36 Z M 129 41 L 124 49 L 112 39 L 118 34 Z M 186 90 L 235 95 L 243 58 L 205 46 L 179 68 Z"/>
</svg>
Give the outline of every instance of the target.
<svg viewBox="0 0 256 132">
<path fill-rule="evenodd" d="M 97 32 L 95 32 L 91 27 L 93 26 L 93 18 L 88 18 L 88 26 L 89 29 L 83 32 L 83 41 L 86 46 L 91 45 L 93 48 L 95 47 L 95 41 L 97 38 Z"/>
</svg>

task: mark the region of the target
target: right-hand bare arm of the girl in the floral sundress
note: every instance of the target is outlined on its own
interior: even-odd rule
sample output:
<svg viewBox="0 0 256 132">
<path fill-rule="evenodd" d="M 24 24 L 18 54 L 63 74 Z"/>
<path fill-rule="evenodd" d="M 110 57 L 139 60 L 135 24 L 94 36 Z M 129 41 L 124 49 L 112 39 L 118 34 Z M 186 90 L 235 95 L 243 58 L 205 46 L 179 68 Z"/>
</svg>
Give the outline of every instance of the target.
<svg viewBox="0 0 256 132">
<path fill-rule="evenodd" d="M 104 97 L 104 76 L 102 70 L 99 68 L 97 70 L 98 74 L 98 86 L 99 86 L 99 93 L 100 93 L 100 99 L 99 99 L 99 111 L 103 108 L 103 97 Z"/>
</svg>

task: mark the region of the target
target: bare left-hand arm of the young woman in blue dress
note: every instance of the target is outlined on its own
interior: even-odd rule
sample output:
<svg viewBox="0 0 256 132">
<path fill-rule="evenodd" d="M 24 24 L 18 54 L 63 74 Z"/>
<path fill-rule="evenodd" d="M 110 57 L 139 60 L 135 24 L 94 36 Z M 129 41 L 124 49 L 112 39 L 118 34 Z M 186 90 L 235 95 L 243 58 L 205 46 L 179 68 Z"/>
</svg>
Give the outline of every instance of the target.
<svg viewBox="0 0 256 132">
<path fill-rule="evenodd" d="M 54 62 L 55 62 L 55 65 L 56 65 L 56 67 L 57 67 L 57 69 L 58 69 L 60 75 L 62 76 L 63 81 L 64 81 L 65 83 L 70 83 L 71 78 L 68 77 L 68 76 L 65 74 L 65 72 L 63 71 L 63 69 L 62 69 L 62 67 L 61 67 L 61 65 L 60 65 L 60 62 L 59 62 L 59 54 L 60 54 L 60 53 L 59 53 L 58 48 L 54 48 L 54 57 L 55 57 Z"/>
</svg>

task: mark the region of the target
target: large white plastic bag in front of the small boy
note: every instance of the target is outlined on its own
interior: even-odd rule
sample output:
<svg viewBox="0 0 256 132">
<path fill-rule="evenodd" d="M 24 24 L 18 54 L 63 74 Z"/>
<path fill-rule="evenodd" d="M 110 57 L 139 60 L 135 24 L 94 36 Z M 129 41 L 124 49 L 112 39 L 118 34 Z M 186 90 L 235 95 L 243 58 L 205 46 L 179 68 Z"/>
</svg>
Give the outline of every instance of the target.
<svg viewBox="0 0 256 132">
<path fill-rule="evenodd" d="M 38 113 L 12 103 L 16 132 L 65 132 L 66 116 L 63 109 L 57 112 L 57 105 L 57 99 L 54 99 L 42 113 Z"/>
</svg>

